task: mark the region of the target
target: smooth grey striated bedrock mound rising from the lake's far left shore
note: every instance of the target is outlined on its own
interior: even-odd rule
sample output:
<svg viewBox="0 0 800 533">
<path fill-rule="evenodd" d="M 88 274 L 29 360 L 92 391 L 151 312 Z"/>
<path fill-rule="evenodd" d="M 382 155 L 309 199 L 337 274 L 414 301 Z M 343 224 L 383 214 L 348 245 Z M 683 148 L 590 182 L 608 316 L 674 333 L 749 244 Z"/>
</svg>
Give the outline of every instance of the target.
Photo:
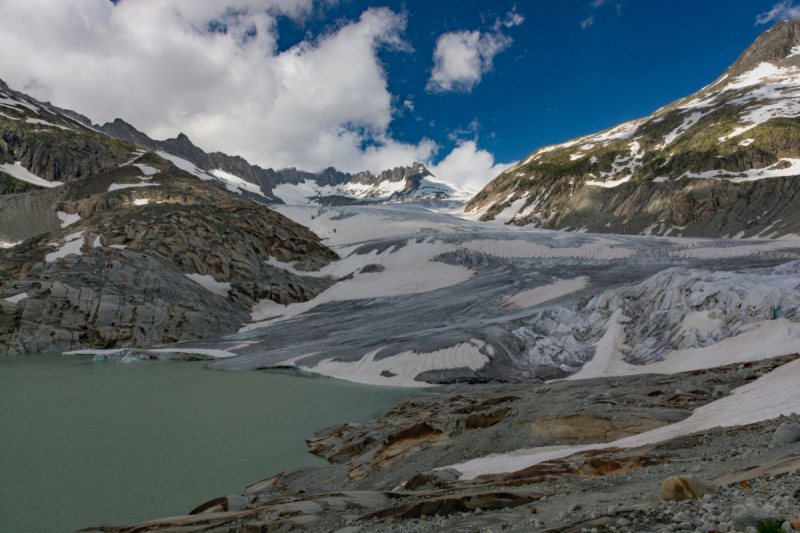
<svg viewBox="0 0 800 533">
<path fill-rule="evenodd" d="M 248 318 L 166 261 L 115 248 L 36 263 L 2 292 L 25 297 L 0 299 L 0 354 L 148 347 L 231 333 Z"/>
</svg>

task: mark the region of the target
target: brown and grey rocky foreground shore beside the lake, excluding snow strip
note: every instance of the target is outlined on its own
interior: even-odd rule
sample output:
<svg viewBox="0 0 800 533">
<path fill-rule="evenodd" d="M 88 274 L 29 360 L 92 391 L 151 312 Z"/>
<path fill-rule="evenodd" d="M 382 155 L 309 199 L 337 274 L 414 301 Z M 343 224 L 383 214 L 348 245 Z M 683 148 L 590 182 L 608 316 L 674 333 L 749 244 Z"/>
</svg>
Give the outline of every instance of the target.
<svg viewBox="0 0 800 533">
<path fill-rule="evenodd" d="M 309 450 L 328 467 L 278 474 L 186 516 L 85 531 L 750 533 L 762 519 L 792 531 L 800 518 L 797 416 L 640 447 L 609 444 L 472 478 L 458 463 L 613 443 L 683 420 L 797 358 L 670 376 L 443 386 L 366 424 L 318 432 Z"/>
</svg>

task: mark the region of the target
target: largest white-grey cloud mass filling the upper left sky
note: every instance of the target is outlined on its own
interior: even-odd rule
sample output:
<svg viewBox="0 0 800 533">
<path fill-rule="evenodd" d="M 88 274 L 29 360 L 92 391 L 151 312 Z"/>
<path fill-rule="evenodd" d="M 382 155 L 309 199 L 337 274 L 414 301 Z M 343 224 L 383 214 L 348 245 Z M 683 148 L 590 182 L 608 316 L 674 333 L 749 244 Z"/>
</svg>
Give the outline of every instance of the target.
<svg viewBox="0 0 800 533">
<path fill-rule="evenodd" d="M 333 0 L 327 0 L 327 3 Z M 0 73 L 13 88 L 154 138 L 273 168 L 372 170 L 430 162 L 391 137 L 399 112 L 378 58 L 408 50 L 406 17 L 368 9 L 280 52 L 276 18 L 314 0 L 0 0 Z"/>
</svg>

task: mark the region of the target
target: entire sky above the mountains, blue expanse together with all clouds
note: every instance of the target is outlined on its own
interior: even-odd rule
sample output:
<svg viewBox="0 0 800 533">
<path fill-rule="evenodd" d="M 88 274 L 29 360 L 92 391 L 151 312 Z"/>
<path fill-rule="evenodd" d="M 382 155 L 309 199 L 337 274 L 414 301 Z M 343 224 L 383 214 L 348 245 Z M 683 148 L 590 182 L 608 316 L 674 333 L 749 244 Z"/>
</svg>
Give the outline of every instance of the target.
<svg viewBox="0 0 800 533">
<path fill-rule="evenodd" d="M 0 0 L 0 13 L 0 79 L 96 122 L 184 132 L 264 167 L 419 161 L 480 188 L 538 147 L 707 85 L 800 0 Z"/>
</svg>

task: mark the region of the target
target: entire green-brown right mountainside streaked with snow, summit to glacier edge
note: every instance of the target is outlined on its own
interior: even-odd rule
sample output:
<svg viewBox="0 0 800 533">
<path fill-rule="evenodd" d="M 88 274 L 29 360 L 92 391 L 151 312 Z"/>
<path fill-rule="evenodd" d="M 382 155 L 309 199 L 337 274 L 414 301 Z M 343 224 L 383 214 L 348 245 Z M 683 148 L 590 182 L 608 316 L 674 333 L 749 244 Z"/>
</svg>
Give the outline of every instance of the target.
<svg viewBox="0 0 800 533">
<path fill-rule="evenodd" d="M 466 206 L 481 220 L 593 232 L 800 234 L 800 20 L 651 116 L 541 148 Z"/>
</svg>

